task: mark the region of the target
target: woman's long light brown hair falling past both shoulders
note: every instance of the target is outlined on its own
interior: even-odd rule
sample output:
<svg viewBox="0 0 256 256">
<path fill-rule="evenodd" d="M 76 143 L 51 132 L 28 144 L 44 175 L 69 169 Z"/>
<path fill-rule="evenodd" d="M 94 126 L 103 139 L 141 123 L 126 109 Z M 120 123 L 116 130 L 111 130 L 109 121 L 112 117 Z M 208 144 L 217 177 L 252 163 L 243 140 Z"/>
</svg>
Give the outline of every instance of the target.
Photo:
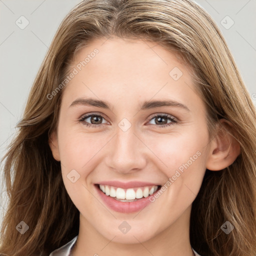
<svg viewBox="0 0 256 256">
<path fill-rule="evenodd" d="M 256 113 L 215 22 L 190 0 L 84 0 L 61 22 L 31 88 L 18 132 L 4 155 L 9 204 L 0 252 L 50 253 L 78 234 L 79 212 L 69 198 L 48 136 L 55 130 L 63 81 L 77 49 L 95 38 L 144 38 L 178 53 L 192 67 L 210 125 L 234 127 L 241 153 L 227 168 L 206 170 L 192 204 L 191 246 L 201 255 L 256 254 Z M 99 53 L 100 54 L 100 53 Z M 47 96 L 48 95 L 48 96 Z M 20 234 L 16 225 L 28 230 Z M 225 234 L 221 225 L 234 229 Z"/>
</svg>

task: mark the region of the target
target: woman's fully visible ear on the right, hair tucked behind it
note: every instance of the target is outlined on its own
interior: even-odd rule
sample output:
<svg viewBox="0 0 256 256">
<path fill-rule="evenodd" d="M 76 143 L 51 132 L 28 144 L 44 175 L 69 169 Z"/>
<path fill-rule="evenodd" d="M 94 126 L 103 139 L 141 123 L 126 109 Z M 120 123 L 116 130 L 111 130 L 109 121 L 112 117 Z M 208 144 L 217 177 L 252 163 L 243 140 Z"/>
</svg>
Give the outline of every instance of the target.
<svg viewBox="0 0 256 256">
<path fill-rule="evenodd" d="M 222 170 L 232 164 L 240 154 L 240 144 L 231 134 L 232 124 L 220 119 L 216 136 L 210 142 L 210 151 L 206 162 L 209 170 Z"/>
</svg>

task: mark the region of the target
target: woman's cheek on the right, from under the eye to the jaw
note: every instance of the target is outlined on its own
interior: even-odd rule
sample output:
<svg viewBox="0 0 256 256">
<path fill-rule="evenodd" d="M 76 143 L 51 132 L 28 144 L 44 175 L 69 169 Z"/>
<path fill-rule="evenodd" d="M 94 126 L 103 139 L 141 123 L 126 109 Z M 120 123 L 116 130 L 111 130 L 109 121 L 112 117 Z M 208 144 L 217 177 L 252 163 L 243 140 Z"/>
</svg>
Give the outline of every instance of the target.
<svg viewBox="0 0 256 256">
<path fill-rule="evenodd" d="M 159 158 L 156 164 L 165 176 L 166 200 L 170 200 L 169 205 L 179 205 L 177 209 L 185 208 L 194 200 L 205 173 L 207 127 L 191 125 L 180 132 L 147 137 L 146 141 Z"/>
</svg>

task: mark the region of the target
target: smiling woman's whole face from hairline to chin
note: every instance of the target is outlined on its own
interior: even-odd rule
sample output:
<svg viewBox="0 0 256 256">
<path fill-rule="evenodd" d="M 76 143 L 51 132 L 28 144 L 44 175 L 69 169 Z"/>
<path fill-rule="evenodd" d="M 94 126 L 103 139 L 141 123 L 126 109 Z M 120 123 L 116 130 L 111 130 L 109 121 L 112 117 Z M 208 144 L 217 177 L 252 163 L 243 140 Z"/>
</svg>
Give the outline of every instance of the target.
<svg viewBox="0 0 256 256">
<path fill-rule="evenodd" d="M 131 243 L 188 223 L 209 153 L 189 67 L 156 43 L 112 37 L 80 49 L 70 70 L 52 152 L 80 225 Z M 111 196 L 96 184 L 108 184 Z M 147 197 L 114 199 L 146 196 L 152 185 L 158 190 Z"/>
</svg>

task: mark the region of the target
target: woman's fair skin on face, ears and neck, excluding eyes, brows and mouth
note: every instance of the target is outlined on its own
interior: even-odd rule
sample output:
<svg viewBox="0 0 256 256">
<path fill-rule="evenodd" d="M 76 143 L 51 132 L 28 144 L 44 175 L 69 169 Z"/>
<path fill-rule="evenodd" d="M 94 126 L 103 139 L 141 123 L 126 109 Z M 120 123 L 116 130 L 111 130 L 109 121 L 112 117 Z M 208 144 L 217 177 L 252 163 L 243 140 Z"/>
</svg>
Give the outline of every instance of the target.
<svg viewBox="0 0 256 256">
<path fill-rule="evenodd" d="M 191 256 L 191 204 L 205 169 L 220 170 L 230 165 L 239 154 L 239 146 L 225 129 L 219 132 L 222 139 L 209 139 L 204 103 L 196 93 L 191 69 L 177 55 L 149 41 L 102 38 L 79 49 L 73 67 L 95 48 L 98 54 L 64 88 L 57 130 L 49 140 L 53 157 L 61 161 L 65 188 L 80 212 L 72 253 Z M 173 67 L 183 73 L 178 80 L 169 75 Z M 112 107 L 69 107 L 81 97 L 104 100 Z M 177 106 L 140 110 L 144 101 L 162 99 L 180 102 L 189 110 Z M 102 115 L 101 124 L 88 127 L 79 121 L 90 113 Z M 176 122 L 161 127 L 156 114 L 170 115 Z M 131 124 L 125 132 L 118 126 L 123 118 Z M 170 122 L 164 117 L 161 120 L 163 124 Z M 86 121 L 93 123 L 90 117 Z M 164 185 L 197 151 L 200 156 L 139 212 L 109 209 L 93 185 L 102 180 Z M 72 169 L 80 175 L 74 183 L 67 178 Z M 124 220 L 131 226 L 125 234 L 118 228 Z"/>
</svg>

